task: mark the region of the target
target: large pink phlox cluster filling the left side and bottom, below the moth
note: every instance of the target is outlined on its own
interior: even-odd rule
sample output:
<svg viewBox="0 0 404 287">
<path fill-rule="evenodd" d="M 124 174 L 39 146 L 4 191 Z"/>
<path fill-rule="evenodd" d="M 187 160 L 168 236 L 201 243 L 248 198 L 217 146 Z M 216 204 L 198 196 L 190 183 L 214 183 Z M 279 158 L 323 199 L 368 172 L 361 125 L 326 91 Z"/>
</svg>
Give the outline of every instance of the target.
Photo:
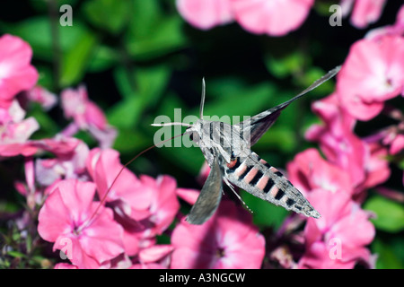
<svg viewBox="0 0 404 287">
<path fill-rule="evenodd" d="M 117 133 L 85 86 L 60 94 L 70 120 L 66 128 L 31 140 L 40 125 L 25 118 L 22 107 L 32 101 L 45 110 L 57 105 L 57 95 L 36 86 L 31 54 L 22 39 L 0 38 L 0 156 L 24 159 L 25 181 L 14 185 L 29 210 L 18 226 L 26 230 L 38 215 L 38 234 L 52 245 L 55 268 L 259 268 L 265 240 L 250 216 L 224 202 L 205 226 L 185 222 L 179 196 L 194 204 L 198 191 L 177 187 L 167 175 L 137 177 L 123 168 L 119 152 L 110 148 Z M 79 130 L 99 146 L 90 149 L 75 138 Z M 163 234 L 171 242 L 159 243 Z"/>
</svg>

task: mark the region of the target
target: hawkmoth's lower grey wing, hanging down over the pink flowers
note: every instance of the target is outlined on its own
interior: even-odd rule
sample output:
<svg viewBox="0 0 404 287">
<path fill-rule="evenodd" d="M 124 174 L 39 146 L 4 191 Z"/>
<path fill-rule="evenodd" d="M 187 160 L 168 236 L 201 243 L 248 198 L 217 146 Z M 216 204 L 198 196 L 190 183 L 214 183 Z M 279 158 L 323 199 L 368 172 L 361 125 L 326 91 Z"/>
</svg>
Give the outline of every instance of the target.
<svg viewBox="0 0 404 287">
<path fill-rule="evenodd" d="M 222 171 L 215 157 L 209 176 L 200 191 L 197 202 L 192 206 L 187 216 L 187 222 L 191 224 L 202 224 L 206 222 L 215 213 L 220 199 L 222 198 L 222 190 Z"/>
</svg>

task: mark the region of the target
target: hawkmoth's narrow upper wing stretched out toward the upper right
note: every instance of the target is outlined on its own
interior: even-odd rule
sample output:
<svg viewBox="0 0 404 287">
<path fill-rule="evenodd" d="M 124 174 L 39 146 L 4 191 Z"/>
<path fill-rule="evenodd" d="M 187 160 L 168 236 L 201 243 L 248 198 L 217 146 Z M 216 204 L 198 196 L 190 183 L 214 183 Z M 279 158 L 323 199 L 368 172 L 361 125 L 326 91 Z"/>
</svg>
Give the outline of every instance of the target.
<svg viewBox="0 0 404 287">
<path fill-rule="evenodd" d="M 321 83 L 328 81 L 330 78 L 338 73 L 340 68 L 341 67 L 338 65 L 337 67 L 329 71 L 329 73 L 323 75 L 319 80 L 312 83 L 310 87 L 294 96 L 294 98 L 292 98 L 291 100 L 287 100 L 275 108 L 267 109 L 259 113 L 258 115 L 250 117 L 249 119 L 239 123 L 238 125 L 242 127 L 243 136 L 250 143 L 250 146 L 258 142 L 259 138 L 264 135 L 268 131 L 268 128 L 275 123 L 277 117 L 279 117 L 280 115 L 280 112 L 285 109 L 291 102 L 299 99 L 307 92 L 317 88 L 321 85 Z"/>
</svg>

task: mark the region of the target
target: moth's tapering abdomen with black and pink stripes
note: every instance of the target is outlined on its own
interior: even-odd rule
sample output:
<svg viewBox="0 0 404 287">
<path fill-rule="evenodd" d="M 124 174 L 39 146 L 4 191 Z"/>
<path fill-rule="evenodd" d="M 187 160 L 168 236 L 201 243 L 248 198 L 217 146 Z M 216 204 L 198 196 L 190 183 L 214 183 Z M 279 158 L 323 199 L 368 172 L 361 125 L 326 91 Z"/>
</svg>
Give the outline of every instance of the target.
<svg viewBox="0 0 404 287">
<path fill-rule="evenodd" d="M 253 196 L 281 205 L 295 213 L 321 217 L 279 170 L 270 166 L 267 161 L 259 159 L 254 152 L 244 159 L 235 158 L 225 164 L 224 176 Z"/>
</svg>

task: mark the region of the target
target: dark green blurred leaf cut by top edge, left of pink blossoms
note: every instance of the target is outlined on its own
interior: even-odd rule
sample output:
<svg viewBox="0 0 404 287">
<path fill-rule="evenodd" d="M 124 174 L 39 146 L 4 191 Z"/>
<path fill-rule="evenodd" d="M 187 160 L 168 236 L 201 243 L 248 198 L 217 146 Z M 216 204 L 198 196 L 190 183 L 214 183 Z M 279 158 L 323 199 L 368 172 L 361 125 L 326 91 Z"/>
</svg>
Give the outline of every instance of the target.
<svg viewBox="0 0 404 287">
<path fill-rule="evenodd" d="M 112 34 L 119 33 L 125 27 L 131 10 L 129 0 L 91 0 L 83 4 L 83 13 L 88 21 Z"/>
</svg>

